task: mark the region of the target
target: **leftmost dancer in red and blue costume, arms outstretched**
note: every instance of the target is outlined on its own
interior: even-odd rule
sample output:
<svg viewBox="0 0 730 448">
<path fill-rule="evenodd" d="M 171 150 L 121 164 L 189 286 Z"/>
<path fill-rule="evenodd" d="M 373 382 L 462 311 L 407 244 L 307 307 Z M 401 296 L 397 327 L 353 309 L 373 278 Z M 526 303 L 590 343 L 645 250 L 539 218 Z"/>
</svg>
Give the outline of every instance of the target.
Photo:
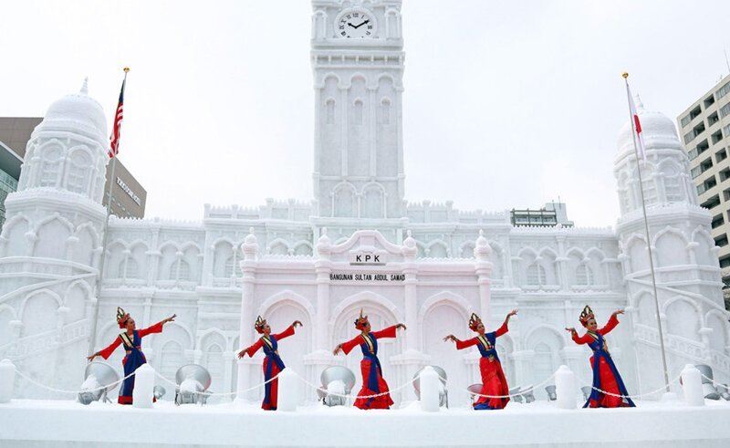
<svg viewBox="0 0 730 448">
<path fill-rule="evenodd" d="M 142 353 L 141 350 L 142 338 L 152 333 L 162 333 L 162 326 L 167 322 L 175 320 L 175 317 L 176 315 L 173 314 L 170 318 L 166 318 L 162 320 L 162 322 L 158 322 L 150 328 L 142 328 L 141 330 L 138 330 L 137 324 L 134 322 L 133 318 L 130 318 L 130 314 L 125 313 L 123 309 L 117 307 L 117 323 L 120 325 L 120 328 L 125 329 L 126 331 L 120 333 L 120 336 L 117 339 L 114 339 L 114 342 L 112 342 L 109 347 L 97 351 L 93 355 L 87 357 L 87 359 L 92 361 L 98 356 L 104 359 L 109 359 L 111 353 L 117 349 L 117 347 L 124 345 L 124 349 L 127 354 L 124 355 L 124 359 L 121 359 L 121 365 L 124 368 L 124 376 L 126 377 L 130 375 L 131 372 L 137 370 L 142 364 L 147 363 L 147 358 L 145 358 L 144 353 Z M 121 383 L 120 398 L 118 402 L 120 404 L 132 404 L 132 391 L 134 391 L 134 376 L 130 376 L 130 378 Z"/>
</svg>

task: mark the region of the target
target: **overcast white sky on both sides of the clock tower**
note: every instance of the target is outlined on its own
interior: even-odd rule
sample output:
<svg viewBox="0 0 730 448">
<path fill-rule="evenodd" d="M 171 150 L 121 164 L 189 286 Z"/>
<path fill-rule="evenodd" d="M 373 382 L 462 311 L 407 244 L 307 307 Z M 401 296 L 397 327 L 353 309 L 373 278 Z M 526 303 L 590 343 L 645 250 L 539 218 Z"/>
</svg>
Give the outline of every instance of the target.
<svg viewBox="0 0 730 448">
<path fill-rule="evenodd" d="M 726 0 L 404 0 L 406 199 L 462 210 L 558 196 L 615 223 L 620 73 L 671 119 L 727 74 Z M 147 216 L 312 197 L 309 0 L 5 1 L 0 116 L 89 94 L 111 120 L 131 68 L 120 160 Z"/>
</svg>

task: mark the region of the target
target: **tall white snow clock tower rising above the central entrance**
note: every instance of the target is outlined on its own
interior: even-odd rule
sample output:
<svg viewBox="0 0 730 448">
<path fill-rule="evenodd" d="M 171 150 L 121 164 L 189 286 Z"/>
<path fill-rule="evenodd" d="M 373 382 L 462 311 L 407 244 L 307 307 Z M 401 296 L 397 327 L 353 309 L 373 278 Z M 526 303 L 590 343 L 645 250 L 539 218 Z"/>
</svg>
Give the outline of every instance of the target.
<svg viewBox="0 0 730 448">
<path fill-rule="evenodd" d="M 401 0 L 312 6 L 319 217 L 401 218 Z"/>
</svg>

